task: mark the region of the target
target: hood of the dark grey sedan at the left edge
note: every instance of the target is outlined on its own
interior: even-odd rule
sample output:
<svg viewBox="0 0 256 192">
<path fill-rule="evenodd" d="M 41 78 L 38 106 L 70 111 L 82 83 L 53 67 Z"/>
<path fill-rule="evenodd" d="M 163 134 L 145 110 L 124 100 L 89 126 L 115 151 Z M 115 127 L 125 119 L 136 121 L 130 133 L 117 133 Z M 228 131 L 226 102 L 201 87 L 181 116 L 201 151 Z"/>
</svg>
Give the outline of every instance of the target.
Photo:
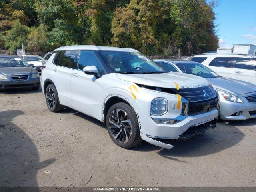
<svg viewBox="0 0 256 192">
<path fill-rule="evenodd" d="M 31 67 L 1 67 L 0 74 L 3 75 L 27 75 L 32 72 L 37 72 Z"/>
</svg>

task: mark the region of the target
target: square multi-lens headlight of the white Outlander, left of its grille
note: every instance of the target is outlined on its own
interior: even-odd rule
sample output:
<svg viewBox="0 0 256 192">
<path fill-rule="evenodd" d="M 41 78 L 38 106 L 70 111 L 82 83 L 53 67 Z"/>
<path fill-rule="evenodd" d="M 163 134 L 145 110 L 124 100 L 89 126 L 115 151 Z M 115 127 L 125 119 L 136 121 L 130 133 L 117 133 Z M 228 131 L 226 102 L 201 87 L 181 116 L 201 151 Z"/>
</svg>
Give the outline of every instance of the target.
<svg viewBox="0 0 256 192">
<path fill-rule="evenodd" d="M 165 98 L 155 98 L 151 102 L 150 114 L 160 116 L 166 114 L 168 110 L 168 101 Z"/>
</svg>

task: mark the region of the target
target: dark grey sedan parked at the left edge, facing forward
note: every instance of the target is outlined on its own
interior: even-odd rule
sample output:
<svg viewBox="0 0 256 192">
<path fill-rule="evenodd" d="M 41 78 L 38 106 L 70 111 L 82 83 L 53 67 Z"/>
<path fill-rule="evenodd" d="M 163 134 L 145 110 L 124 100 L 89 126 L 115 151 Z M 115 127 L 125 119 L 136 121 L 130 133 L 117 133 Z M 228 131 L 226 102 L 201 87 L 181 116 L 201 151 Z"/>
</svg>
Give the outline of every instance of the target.
<svg viewBox="0 0 256 192">
<path fill-rule="evenodd" d="M 0 90 L 14 88 L 38 90 L 39 87 L 38 72 L 28 66 L 22 58 L 14 55 L 0 55 Z"/>
</svg>

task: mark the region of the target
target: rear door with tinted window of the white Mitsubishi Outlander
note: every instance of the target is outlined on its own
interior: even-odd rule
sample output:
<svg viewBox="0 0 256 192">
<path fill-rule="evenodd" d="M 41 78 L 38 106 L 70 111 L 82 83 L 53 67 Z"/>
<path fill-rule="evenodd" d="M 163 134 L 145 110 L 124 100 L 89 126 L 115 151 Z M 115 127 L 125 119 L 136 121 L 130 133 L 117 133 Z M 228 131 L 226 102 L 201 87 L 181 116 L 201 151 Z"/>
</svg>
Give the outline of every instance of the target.
<svg viewBox="0 0 256 192">
<path fill-rule="evenodd" d="M 66 50 L 56 53 L 53 75 L 60 104 L 72 107 L 71 76 L 77 63 L 78 50 Z"/>
</svg>

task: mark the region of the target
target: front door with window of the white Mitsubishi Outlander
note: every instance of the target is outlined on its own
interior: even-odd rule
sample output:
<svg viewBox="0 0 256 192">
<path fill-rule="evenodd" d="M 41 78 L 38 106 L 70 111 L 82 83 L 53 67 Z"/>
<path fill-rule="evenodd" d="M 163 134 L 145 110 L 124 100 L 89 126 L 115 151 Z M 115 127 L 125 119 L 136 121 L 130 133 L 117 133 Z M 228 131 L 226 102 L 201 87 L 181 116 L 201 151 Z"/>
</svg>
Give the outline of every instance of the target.
<svg viewBox="0 0 256 192">
<path fill-rule="evenodd" d="M 97 79 L 94 75 L 85 74 L 83 68 L 91 65 L 96 66 L 100 74 L 104 74 L 94 51 L 81 50 L 77 70 L 71 76 L 72 105 L 74 109 L 101 120 L 102 85 L 106 77 L 103 75 Z"/>
</svg>

